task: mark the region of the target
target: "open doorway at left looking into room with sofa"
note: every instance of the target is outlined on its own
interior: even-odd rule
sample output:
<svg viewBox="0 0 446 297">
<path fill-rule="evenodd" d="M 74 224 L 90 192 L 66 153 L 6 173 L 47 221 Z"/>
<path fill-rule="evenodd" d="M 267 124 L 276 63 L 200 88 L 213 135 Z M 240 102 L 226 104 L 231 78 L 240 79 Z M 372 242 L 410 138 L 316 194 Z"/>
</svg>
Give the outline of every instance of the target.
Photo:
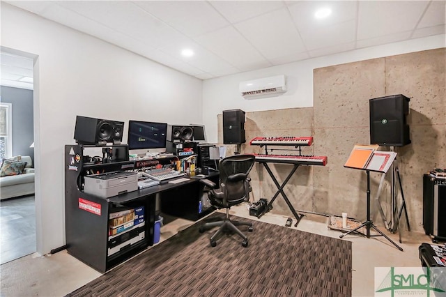
<svg viewBox="0 0 446 297">
<path fill-rule="evenodd" d="M 4 121 L 5 129 L 2 130 L 0 139 L 0 148 L 3 146 L 5 148 L 0 149 L 2 152 L 0 158 L 29 156 L 26 160 L 31 161 L 27 162 L 27 167 L 33 169 L 35 165 L 33 66 L 36 55 L 6 47 L 0 47 L 0 55 L 0 101 L 10 107 L 9 118 L 8 121 Z M 30 173 L 33 174 L 33 170 L 27 169 L 26 174 Z M 3 185 L 2 182 L 2 188 L 8 184 L 9 182 Z M 18 186 L 15 196 L 15 189 L 9 188 L 8 195 L 1 197 L 0 201 L 0 264 L 32 254 L 37 249 L 34 192 L 32 188 L 26 193 L 20 192 Z"/>
</svg>

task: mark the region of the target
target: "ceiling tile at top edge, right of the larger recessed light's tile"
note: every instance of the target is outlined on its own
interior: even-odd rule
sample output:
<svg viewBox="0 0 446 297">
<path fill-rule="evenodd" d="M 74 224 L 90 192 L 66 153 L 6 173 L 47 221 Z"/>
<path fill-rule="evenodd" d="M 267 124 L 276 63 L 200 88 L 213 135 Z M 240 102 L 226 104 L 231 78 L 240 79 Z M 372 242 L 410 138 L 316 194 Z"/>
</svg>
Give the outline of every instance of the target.
<svg viewBox="0 0 446 297">
<path fill-rule="evenodd" d="M 428 4 L 428 1 L 360 1 L 357 38 L 413 30 Z"/>
</svg>

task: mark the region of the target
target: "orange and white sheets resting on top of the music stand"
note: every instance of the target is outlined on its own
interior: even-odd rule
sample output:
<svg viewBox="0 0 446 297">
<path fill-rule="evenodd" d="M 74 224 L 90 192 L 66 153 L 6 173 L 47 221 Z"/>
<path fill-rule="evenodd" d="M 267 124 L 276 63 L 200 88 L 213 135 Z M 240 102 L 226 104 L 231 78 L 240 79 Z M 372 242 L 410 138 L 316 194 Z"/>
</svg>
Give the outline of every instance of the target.
<svg viewBox="0 0 446 297">
<path fill-rule="evenodd" d="M 387 172 L 397 157 L 394 151 L 377 151 L 378 144 L 355 144 L 344 167 Z"/>
</svg>

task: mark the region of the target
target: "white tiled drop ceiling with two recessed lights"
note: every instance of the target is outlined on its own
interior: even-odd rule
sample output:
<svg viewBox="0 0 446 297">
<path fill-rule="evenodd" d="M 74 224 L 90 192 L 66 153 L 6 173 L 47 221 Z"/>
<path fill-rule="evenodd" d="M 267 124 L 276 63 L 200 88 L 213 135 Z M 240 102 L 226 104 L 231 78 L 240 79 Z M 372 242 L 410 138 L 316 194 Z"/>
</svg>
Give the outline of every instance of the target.
<svg viewBox="0 0 446 297">
<path fill-rule="evenodd" d="M 199 79 L 444 34 L 446 14 L 445 1 L 6 2 Z"/>
</svg>

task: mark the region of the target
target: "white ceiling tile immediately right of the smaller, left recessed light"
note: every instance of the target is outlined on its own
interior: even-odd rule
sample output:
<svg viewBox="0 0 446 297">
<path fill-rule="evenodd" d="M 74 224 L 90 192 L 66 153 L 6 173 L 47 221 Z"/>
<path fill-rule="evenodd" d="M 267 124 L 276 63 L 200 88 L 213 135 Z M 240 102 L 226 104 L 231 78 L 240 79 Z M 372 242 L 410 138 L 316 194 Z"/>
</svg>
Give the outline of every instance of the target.
<svg viewBox="0 0 446 297">
<path fill-rule="evenodd" d="M 237 68 L 266 62 L 266 59 L 233 26 L 198 36 L 194 40 Z"/>
</svg>

